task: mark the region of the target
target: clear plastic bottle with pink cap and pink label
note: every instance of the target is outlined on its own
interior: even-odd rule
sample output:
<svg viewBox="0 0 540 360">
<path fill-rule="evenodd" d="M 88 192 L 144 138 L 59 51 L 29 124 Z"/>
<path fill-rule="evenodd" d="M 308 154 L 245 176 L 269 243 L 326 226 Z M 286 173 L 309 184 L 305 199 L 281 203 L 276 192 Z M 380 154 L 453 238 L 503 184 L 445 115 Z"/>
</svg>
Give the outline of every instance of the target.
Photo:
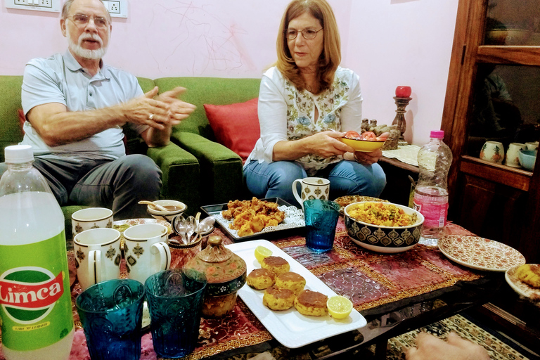
<svg viewBox="0 0 540 360">
<path fill-rule="evenodd" d="M 414 191 L 414 209 L 424 216 L 423 238 L 438 239 L 448 214 L 448 171 L 452 151 L 442 141 L 444 131 L 431 131 L 430 141 L 418 151 L 418 183 Z M 433 244 L 436 245 L 436 244 Z"/>
</svg>

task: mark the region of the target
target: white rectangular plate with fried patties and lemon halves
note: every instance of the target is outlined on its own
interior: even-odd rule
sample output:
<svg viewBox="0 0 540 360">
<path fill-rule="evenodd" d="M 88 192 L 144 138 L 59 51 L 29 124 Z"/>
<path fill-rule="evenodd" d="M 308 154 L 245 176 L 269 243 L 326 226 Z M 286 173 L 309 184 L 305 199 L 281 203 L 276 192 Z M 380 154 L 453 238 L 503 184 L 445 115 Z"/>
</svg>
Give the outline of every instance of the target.
<svg viewBox="0 0 540 360">
<path fill-rule="evenodd" d="M 273 243 L 252 240 L 226 248 L 242 257 L 248 266 L 247 283 L 238 295 L 286 347 L 302 347 L 366 326 L 366 319 L 349 300 L 338 296 Z M 261 248 L 264 252 L 259 252 Z M 340 309 L 339 303 L 348 307 Z"/>
</svg>

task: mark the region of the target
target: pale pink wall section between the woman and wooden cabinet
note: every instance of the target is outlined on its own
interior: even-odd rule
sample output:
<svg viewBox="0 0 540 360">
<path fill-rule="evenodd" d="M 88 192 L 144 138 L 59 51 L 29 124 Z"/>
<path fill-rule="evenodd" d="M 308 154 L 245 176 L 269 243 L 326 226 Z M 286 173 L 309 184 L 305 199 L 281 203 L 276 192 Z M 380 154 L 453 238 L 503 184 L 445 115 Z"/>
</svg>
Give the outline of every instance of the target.
<svg viewBox="0 0 540 360">
<path fill-rule="evenodd" d="M 396 86 L 411 86 L 405 139 L 441 126 L 458 0 L 352 1 L 347 65 L 359 73 L 363 115 L 391 124 Z"/>
</svg>

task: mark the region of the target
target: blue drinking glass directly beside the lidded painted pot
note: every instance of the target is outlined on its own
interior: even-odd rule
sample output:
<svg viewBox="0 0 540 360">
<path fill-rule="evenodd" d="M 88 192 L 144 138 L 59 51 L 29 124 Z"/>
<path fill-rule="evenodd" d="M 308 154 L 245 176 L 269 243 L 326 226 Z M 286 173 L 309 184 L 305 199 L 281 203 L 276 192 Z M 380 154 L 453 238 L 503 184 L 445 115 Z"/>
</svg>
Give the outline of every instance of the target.
<svg viewBox="0 0 540 360">
<path fill-rule="evenodd" d="M 154 351 L 164 358 L 186 356 L 199 338 L 206 277 L 193 269 L 169 269 L 144 283 Z"/>
</svg>

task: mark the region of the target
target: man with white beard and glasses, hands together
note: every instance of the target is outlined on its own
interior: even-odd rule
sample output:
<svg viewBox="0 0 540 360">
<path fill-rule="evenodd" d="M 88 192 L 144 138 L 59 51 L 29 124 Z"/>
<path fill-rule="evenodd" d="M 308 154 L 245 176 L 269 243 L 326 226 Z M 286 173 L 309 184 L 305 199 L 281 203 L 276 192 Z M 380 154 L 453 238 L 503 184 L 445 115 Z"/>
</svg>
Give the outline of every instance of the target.
<svg viewBox="0 0 540 360">
<path fill-rule="evenodd" d="M 136 204 L 158 198 L 161 172 L 150 158 L 125 154 L 122 126 L 164 146 L 195 106 L 179 101 L 183 88 L 143 94 L 136 77 L 103 63 L 112 25 L 101 1 L 66 0 L 60 27 L 68 51 L 25 68 L 22 143 L 34 148 L 34 166 L 60 205 L 110 207 L 115 220 L 144 217 Z"/>
</svg>

